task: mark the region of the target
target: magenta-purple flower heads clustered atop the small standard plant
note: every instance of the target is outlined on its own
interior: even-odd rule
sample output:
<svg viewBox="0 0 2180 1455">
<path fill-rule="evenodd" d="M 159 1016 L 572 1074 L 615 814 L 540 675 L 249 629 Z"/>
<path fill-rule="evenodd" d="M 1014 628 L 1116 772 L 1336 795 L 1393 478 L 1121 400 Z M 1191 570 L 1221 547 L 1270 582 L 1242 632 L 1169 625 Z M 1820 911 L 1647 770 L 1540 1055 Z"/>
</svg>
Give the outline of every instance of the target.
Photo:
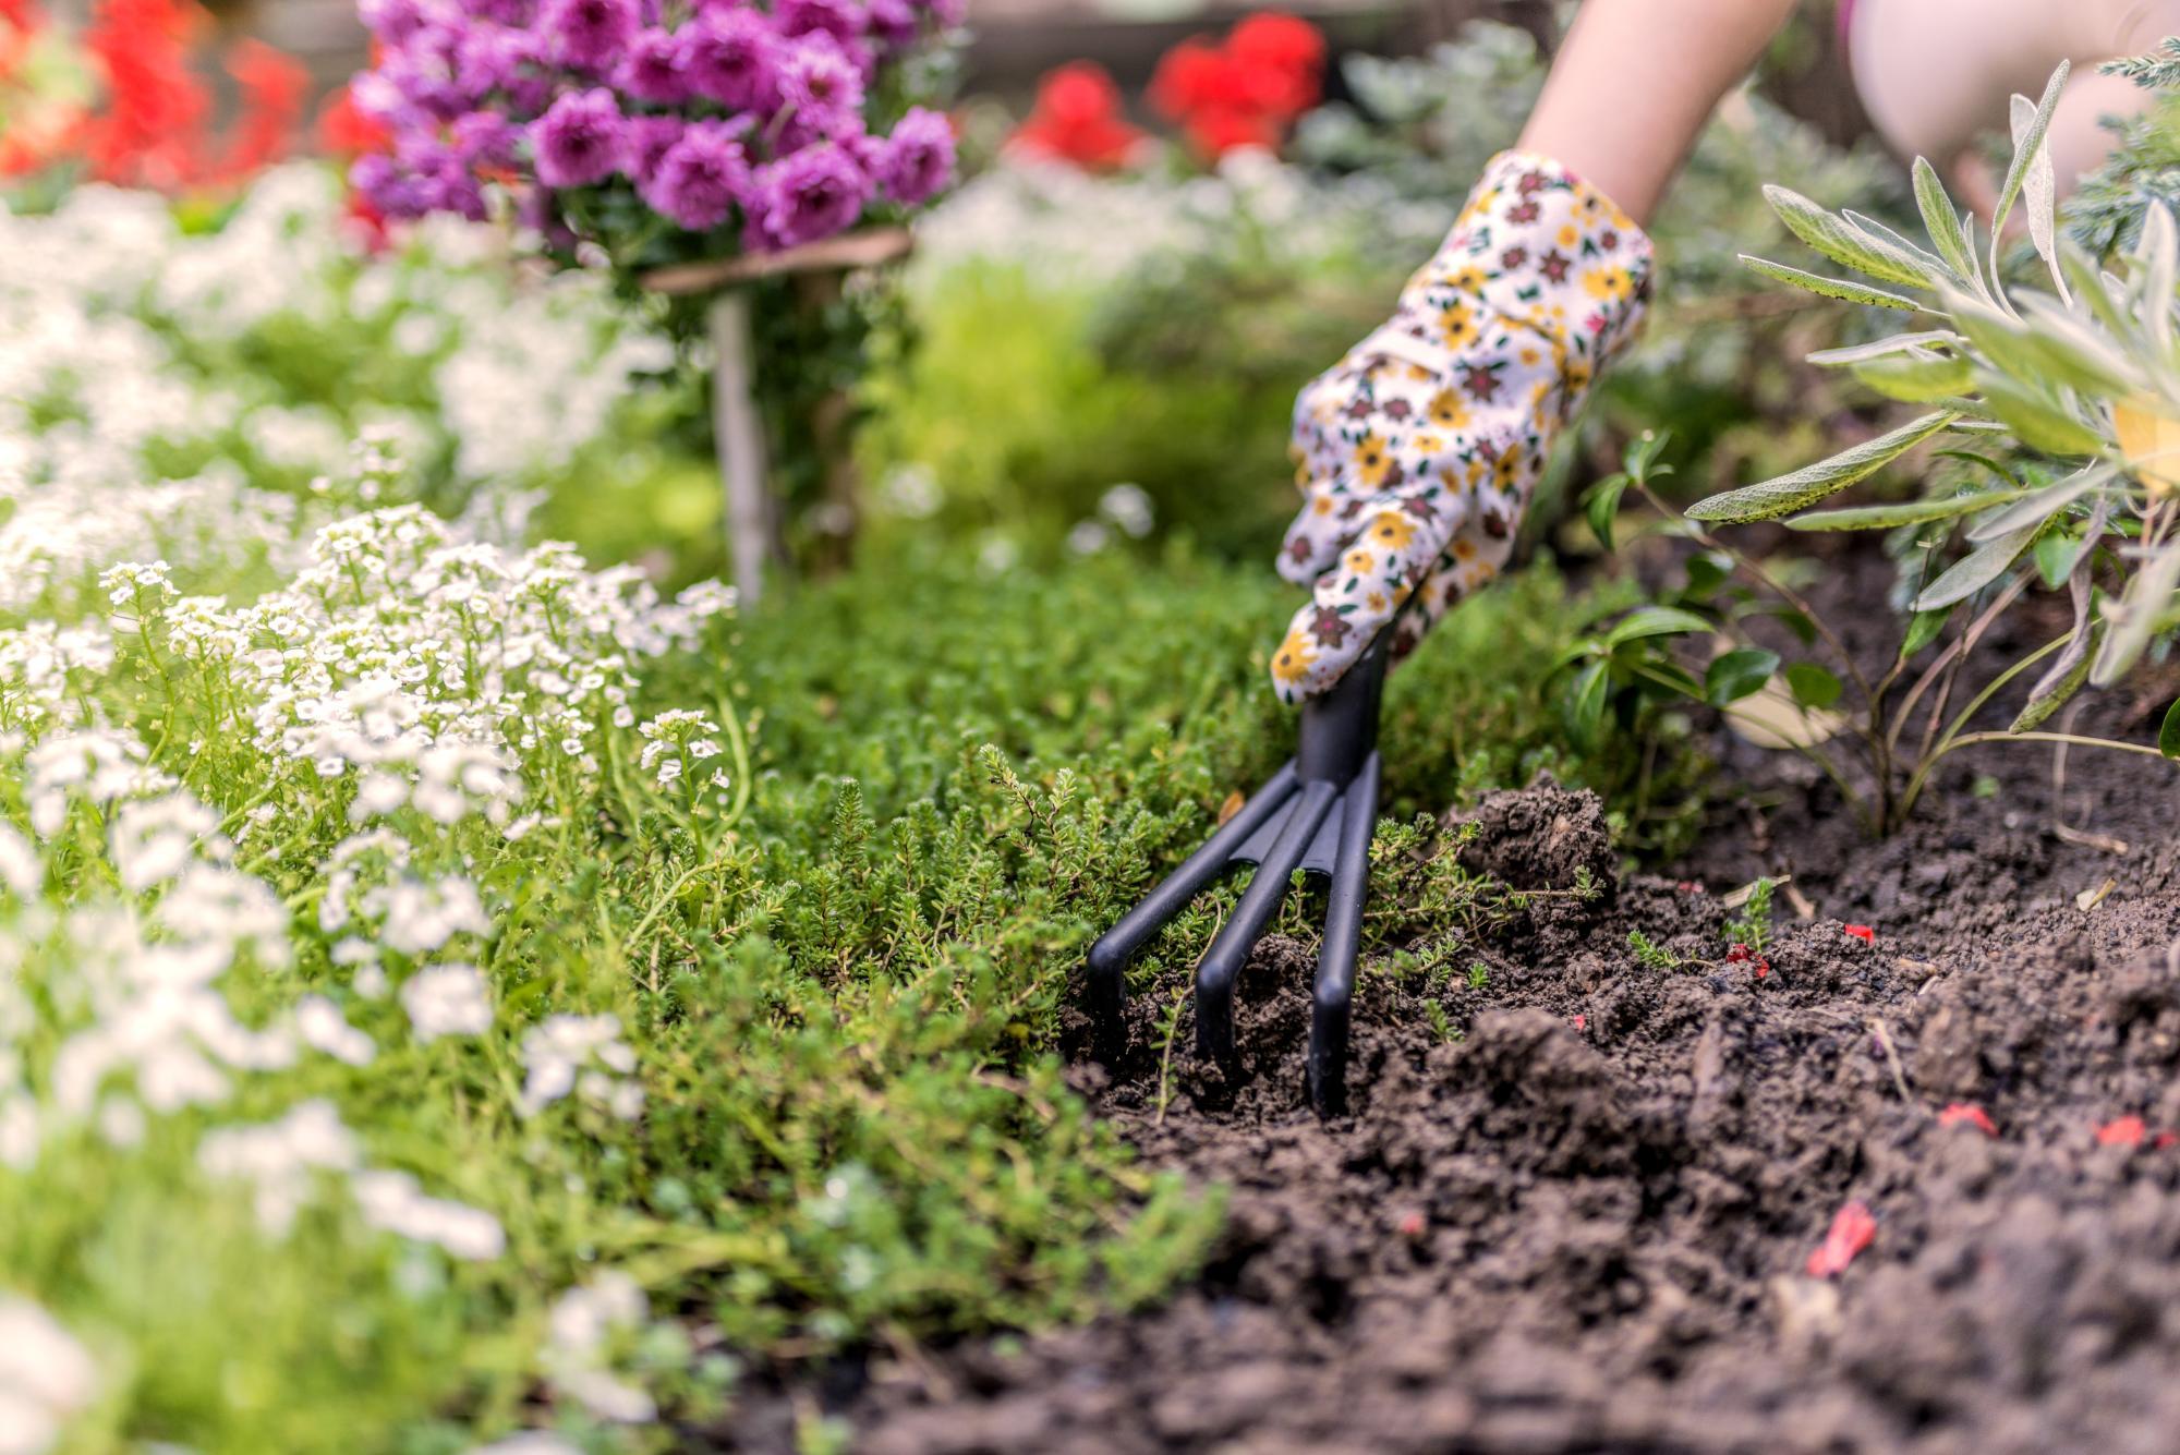
<svg viewBox="0 0 2180 1455">
<path fill-rule="evenodd" d="M 964 0 L 362 0 L 379 59 L 358 105 L 392 150 L 355 163 L 390 218 L 486 213 L 486 185 L 573 233 L 626 185 L 689 233 L 778 250 L 913 207 L 955 168 L 946 118 L 870 129 L 885 68 Z"/>
</svg>

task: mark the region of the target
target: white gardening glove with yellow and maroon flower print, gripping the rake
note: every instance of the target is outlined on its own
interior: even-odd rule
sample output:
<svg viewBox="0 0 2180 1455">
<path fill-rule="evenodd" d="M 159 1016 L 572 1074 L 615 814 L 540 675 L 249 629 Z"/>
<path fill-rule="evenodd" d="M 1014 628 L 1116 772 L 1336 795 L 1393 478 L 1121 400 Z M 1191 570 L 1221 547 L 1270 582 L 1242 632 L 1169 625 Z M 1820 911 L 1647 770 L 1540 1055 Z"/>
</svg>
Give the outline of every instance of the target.
<svg viewBox="0 0 2180 1455">
<path fill-rule="evenodd" d="M 1393 320 L 1295 401 L 1280 575 L 1315 599 L 1271 658 L 1284 701 L 1339 682 L 1417 590 L 1406 653 L 1498 575 L 1598 366 L 1650 292 L 1650 240 L 1557 161 L 1500 152 Z"/>
</svg>

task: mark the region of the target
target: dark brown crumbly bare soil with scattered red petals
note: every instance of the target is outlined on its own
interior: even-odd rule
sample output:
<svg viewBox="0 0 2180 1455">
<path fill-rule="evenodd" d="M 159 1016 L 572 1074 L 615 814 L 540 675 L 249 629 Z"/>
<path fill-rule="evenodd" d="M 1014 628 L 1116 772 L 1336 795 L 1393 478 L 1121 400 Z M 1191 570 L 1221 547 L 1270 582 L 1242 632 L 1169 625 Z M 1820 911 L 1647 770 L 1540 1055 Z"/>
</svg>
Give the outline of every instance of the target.
<svg viewBox="0 0 2180 1455">
<path fill-rule="evenodd" d="M 2078 728 L 2141 741 L 2171 688 Z M 796 1403 L 883 1455 L 2180 1448 L 2176 775 L 2078 749 L 2060 795 L 2047 749 L 1977 749 L 1868 843 L 1777 765 L 1727 765 L 1764 802 L 1676 878 L 1618 880 L 1587 795 L 1485 802 L 1476 867 L 1613 889 L 1535 900 L 1480 989 L 1463 954 L 1452 1043 L 1365 971 L 1347 1120 L 1299 1102 L 1306 945 L 1247 969 L 1238 1076 L 1177 1052 L 1164 1111 L 1138 998 L 1151 1050 L 1081 1083 L 1149 1165 L 1232 1187 L 1203 1274 Z M 1727 958 L 1722 893 L 1757 873 L 1809 913 L 1781 891 L 1775 943 Z"/>
</svg>

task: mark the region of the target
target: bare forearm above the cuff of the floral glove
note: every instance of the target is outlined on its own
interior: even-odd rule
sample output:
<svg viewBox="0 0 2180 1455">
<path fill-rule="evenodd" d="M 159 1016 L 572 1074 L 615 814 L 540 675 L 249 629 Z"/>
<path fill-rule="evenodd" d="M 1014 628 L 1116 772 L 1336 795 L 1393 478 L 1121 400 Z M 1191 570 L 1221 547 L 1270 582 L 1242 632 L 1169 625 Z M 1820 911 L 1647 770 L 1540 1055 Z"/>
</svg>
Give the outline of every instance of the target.
<svg viewBox="0 0 2180 1455">
<path fill-rule="evenodd" d="M 1648 222 L 1718 98 L 1792 13 L 1794 0 L 1589 0 L 1519 146 Z"/>
</svg>

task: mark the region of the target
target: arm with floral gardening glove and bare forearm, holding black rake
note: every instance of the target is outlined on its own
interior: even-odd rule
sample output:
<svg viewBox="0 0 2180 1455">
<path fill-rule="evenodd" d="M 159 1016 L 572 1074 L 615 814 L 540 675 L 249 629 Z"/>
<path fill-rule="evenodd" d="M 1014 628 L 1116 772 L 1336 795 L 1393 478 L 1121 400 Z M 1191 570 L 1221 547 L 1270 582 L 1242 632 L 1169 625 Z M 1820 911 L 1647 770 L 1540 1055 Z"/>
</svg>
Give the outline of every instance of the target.
<svg viewBox="0 0 2180 1455">
<path fill-rule="evenodd" d="M 1485 168 L 1395 316 L 1295 403 L 1304 510 L 1280 573 L 1312 599 L 1273 653 L 1282 699 L 1339 682 L 1417 597 L 1393 643 L 1413 647 L 1506 564 L 1552 442 L 1642 318 L 1639 216 L 1790 9 L 1583 9 L 1522 148 Z"/>
</svg>

